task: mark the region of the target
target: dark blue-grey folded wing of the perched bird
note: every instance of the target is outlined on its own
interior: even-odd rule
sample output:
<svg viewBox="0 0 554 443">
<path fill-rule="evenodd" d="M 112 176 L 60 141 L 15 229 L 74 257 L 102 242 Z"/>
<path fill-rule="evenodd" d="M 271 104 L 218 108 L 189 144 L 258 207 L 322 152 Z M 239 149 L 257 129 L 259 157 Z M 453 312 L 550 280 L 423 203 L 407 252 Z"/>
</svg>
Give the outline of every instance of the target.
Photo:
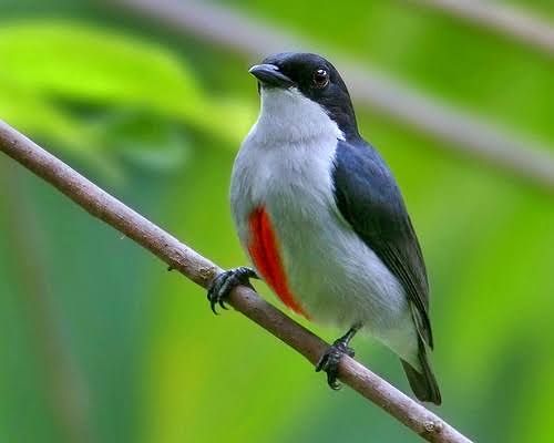
<svg viewBox="0 0 554 443">
<path fill-rule="evenodd" d="M 384 161 L 361 138 L 339 141 L 332 178 L 342 217 L 402 284 L 419 333 L 432 348 L 425 265 L 402 195 Z"/>
</svg>

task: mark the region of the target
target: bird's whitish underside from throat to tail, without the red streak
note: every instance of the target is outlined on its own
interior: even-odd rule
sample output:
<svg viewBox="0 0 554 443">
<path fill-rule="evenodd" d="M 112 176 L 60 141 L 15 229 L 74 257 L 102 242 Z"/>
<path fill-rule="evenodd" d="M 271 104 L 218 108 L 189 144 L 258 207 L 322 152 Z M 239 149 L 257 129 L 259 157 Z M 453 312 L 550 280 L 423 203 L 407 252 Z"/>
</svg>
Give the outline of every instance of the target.
<svg viewBox="0 0 554 443">
<path fill-rule="evenodd" d="M 295 91 L 261 92 L 261 113 L 236 158 L 232 208 L 247 250 L 248 216 L 264 206 L 288 286 L 312 320 L 357 322 L 419 367 L 402 286 L 341 217 L 332 193 L 337 125 Z M 286 110 L 286 112 L 284 111 Z"/>
</svg>

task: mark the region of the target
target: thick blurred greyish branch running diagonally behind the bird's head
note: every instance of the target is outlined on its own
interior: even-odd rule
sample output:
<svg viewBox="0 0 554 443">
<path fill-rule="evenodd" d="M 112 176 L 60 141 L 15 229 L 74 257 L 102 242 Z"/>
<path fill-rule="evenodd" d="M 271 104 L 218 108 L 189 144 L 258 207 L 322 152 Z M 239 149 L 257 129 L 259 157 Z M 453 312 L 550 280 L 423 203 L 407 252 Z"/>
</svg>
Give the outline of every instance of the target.
<svg viewBox="0 0 554 443">
<path fill-rule="evenodd" d="M 254 60 L 283 51 L 327 54 L 326 49 L 317 42 L 291 38 L 283 29 L 224 7 L 223 3 L 197 0 L 117 0 L 117 3 L 177 32 L 193 34 Z M 550 193 L 554 192 L 554 156 L 550 146 L 519 137 L 424 96 L 360 63 L 340 58 L 334 60 L 343 73 L 355 101 L 429 134 L 442 142 L 441 148 L 506 172 Z"/>
</svg>

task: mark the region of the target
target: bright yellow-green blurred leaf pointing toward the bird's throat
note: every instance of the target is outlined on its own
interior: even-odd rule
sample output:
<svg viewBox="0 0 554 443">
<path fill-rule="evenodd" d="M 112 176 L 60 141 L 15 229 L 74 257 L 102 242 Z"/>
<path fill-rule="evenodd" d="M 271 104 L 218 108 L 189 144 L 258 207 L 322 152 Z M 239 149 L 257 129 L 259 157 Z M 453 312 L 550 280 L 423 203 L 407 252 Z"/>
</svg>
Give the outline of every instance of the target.
<svg viewBox="0 0 554 443">
<path fill-rule="evenodd" d="M 237 143 L 253 121 L 242 103 L 204 93 L 175 54 L 138 38 L 84 24 L 25 21 L 0 30 L 0 81 L 25 93 L 37 106 L 59 111 L 59 101 L 86 106 L 140 109 L 175 119 L 213 136 Z M 54 104 L 55 103 L 55 104 Z M 0 113 L 9 110 L 0 97 Z M 19 115 L 29 115 L 23 103 Z M 27 114 L 29 112 L 29 114 Z M 55 138 L 80 133 L 43 112 L 40 130 Z M 232 119 L 228 116 L 232 115 Z M 71 137 L 73 140 L 73 137 Z"/>
</svg>

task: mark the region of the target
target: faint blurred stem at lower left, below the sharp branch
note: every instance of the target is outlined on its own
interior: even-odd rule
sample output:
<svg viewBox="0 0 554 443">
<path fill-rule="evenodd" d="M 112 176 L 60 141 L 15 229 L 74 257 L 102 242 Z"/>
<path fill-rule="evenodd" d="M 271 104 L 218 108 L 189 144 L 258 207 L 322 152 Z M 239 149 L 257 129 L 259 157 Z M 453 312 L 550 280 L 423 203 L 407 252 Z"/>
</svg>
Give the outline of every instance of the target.
<svg viewBox="0 0 554 443">
<path fill-rule="evenodd" d="M 21 173 L 23 169 L 17 171 L 13 165 L 0 164 L 0 185 L 6 187 L 3 190 L 10 207 L 7 210 L 8 229 L 13 233 L 8 233 L 14 249 L 11 264 L 17 267 L 16 276 L 25 296 L 21 301 L 25 305 L 33 344 L 43 368 L 45 391 L 63 441 L 89 443 L 94 439 L 88 420 L 88 392 L 53 312 L 44 269 L 47 261 L 38 250 L 41 246 L 38 219 L 29 202 L 22 200 Z"/>
</svg>

